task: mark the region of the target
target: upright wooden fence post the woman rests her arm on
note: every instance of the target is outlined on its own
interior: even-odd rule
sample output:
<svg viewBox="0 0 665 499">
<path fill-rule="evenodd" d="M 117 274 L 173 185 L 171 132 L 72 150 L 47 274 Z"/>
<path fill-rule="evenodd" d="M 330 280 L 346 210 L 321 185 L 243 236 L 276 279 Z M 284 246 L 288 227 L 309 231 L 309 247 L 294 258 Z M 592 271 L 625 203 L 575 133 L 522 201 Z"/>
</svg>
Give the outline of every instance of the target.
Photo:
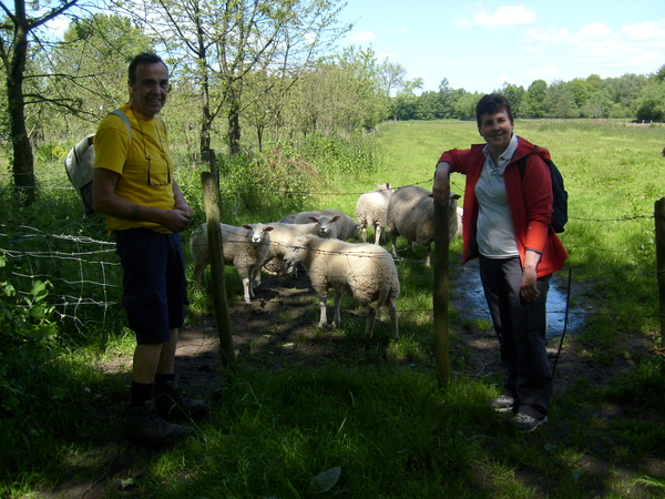
<svg viewBox="0 0 665 499">
<path fill-rule="evenodd" d="M 446 387 L 450 379 L 450 359 L 448 346 L 448 304 L 450 302 L 448 281 L 448 206 L 434 201 L 434 356 L 439 387 Z"/>
</svg>

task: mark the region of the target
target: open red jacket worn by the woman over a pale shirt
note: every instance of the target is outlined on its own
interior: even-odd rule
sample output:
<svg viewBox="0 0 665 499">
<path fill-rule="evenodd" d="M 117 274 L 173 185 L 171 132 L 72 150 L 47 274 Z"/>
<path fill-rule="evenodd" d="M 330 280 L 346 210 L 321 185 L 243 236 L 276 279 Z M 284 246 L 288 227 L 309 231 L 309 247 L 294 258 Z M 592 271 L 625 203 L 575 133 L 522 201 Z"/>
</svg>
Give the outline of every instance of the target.
<svg viewBox="0 0 665 499">
<path fill-rule="evenodd" d="M 552 218 L 552 180 L 550 169 L 543 161 L 550 159 L 550 152 L 544 147 L 538 147 L 534 154 L 530 154 L 526 159 L 526 167 L 522 179 L 516 162 L 520 157 L 531 153 L 535 145 L 522 138 L 518 139 L 518 149 L 511 162 L 505 166 L 503 180 L 522 266 L 524 266 L 524 251 L 526 248 L 541 253 L 536 275 L 542 277 L 562 268 L 569 255 L 550 226 Z M 442 161 L 449 163 L 452 172 L 467 175 L 464 223 L 462 226 L 464 263 L 479 256 L 475 243 L 475 223 L 478 221 L 475 184 L 485 162 L 485 156 L 482 153 L 483 147 L 484 144 L 475 144 L 467 150 L 453 149 L 441 154 L 439 160 L 439 163 Z"/>
</svg>

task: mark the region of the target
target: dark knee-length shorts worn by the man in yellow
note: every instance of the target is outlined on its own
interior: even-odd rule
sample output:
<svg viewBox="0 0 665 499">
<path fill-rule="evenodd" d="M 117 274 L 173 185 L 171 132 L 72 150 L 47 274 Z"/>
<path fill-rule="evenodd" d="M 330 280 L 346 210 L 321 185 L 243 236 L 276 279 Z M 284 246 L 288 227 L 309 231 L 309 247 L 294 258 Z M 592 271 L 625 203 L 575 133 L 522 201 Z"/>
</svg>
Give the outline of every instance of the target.
<svg viewBox="0 0 665 499">
<path fill-rule="evenodd" d="M 187 282 L 180 234 L 149 228 L 115 233 L 123 268 L 122 306 L 139 345 L 165 343 L 185 318 Z"/>
</svg>

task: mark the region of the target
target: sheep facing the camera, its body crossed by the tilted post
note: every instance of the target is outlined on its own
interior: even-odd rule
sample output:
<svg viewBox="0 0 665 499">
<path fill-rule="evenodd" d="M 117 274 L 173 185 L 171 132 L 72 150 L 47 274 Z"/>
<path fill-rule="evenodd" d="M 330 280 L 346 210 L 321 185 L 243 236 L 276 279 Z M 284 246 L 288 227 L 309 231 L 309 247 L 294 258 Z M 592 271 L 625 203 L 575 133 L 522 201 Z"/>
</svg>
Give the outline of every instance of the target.
<svg viewBox="0 0 665 499">
<path fill-rule="evenodd" d="M 219 224 L 222 226 L 222 246 L 224 264 L 233 265 L 243 279 L 243 296 L 245 304 L 250 305 L 255 285 L 260 284 L 260 267 L 263 266 L 270 243 L 269 232 L 273 226 L 265 224 L 248 224 L 242 227 Z M 211 263 L 207 245 L 206 224 L 192 235 L 190 242 L 194 259 L 194 283 L 201 288 L 201 278 Z"/>
</svg>

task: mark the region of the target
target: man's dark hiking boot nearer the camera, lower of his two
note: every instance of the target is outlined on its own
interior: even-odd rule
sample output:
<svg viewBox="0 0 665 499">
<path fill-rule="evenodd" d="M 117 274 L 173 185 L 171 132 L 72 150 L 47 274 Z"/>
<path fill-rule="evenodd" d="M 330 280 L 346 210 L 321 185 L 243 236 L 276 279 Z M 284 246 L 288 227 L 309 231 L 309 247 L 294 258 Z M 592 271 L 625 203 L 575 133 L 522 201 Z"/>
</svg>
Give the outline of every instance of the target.
<svg viewBox="0 0 665 499">
<path fill-rule="evenodd" d="M 164 446 L 184 437 L 187 428 L 166 422 L 155 413 L 153 400 L 130 407 L 126 413 L 127 436 L 151 446 Z"/>
</svg>

